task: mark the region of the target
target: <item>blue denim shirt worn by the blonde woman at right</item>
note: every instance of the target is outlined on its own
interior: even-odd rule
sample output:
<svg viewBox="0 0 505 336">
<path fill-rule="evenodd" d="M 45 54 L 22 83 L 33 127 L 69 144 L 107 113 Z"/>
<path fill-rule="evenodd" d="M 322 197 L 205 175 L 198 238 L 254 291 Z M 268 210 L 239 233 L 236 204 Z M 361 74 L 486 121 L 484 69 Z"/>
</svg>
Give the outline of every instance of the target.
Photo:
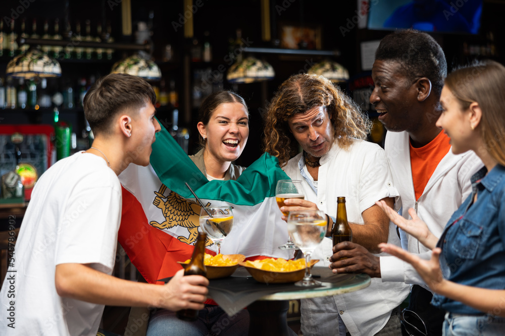
<svg viewBox="0 0 505 336">
<path fill-rule="evenodd" d="M 442 248 L 440 268 L 444 278 L 455 283 L 505 289 L 505 167 L 497 164 L 486 172 L 483 167 L 472 176 L 472 194 L 437 243 Z M 438 294 L 431 303 L 451 313 L 484 314 Z"/>
</svg>

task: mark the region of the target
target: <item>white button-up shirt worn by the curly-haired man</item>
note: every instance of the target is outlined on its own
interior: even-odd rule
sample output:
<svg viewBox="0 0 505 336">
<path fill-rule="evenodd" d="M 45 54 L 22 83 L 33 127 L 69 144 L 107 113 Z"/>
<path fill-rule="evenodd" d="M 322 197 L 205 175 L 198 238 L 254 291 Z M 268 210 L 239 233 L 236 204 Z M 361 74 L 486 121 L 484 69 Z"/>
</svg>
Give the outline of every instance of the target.
<svg viewBox="0 0 505 336">
<path fill-rule="evenodd" d="M 363 224 L 362 213 L 384 197 L 395 197 L 395 207 L 400 207 L 389 165 L 378 145 L 355 140 L 344 150 L 335 142 L 319 161 L 318 181 L 308 173 L 301 155 L 289 160 L 284 170 L 290 178 L 303 181 L 306 199 L 326 214 L 336 216 L 338 196 L 345 197 L 347 220 L 352 223 Z M 388 242 L 399 246 L 392 223 Z M 317 265 L 329 266 L 332 247 L 331 239 L 325 237 L 312 254 L 313 259 L 320 260 Z M 302 331 L 304 335 L 335 335 L 340 315 L 352 336 L 373 335 L 384 327 L 391 310 L 408 295 L 409 286 L 404 283 L 372 279 L 369 287 L 357 292 L 302 300 Z"/>
</svg>

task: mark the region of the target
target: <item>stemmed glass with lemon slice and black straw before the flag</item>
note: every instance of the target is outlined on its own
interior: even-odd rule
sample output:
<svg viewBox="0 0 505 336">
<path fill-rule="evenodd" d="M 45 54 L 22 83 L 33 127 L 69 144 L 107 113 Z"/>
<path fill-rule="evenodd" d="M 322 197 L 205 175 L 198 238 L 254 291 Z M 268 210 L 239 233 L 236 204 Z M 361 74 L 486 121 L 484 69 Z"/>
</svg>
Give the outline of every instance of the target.
<svg viewBox="0 0 505 336">
<path fill-rule="evenodd" d="M 207 207 L 200 209 L 200 228 L 212 239 L 221 253 L 221 242 L 233 227 L 231 207 Z"/>
</svg>

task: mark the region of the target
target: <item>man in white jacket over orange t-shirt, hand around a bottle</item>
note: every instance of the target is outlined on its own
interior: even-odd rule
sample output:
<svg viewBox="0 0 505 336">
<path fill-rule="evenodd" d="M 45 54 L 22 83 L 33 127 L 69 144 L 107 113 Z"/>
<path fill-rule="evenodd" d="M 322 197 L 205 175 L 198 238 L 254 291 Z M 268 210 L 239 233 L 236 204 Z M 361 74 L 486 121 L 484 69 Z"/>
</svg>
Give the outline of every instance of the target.
<svg viewBox="0 0 505 336">
<path fill-rule="evenodd" d="M 447 74 L 442 48 L 428 34 L 406 30 L 384 37 L 372 69 L 374 90 L 370 102 L 388 130 L 385 141 L 402 215 L 409 209 L 440 236 L 452 213 L 471 192 L 470 177 L 482 162 L 473 152 L 454 155 L 447 135 L 435 125 L 440 115 L 440 93 Z M 410 235 L 402 235 L 410 252 L 431 251 Z M 382 281 L 423 284 L 410 264 L 395 257 L 377 257 L 358 244 L 333 248 L 331 268 L 338 273 L 367 273 Z M 339 260 L 346 256 L 347 259 Z M 334 271 L 335 272 L 335 271 Z M 413 286 L 409 310 L 423 318 L 427 332 L 442 332 L 443 311 L 430 305 L 432 294 Z"/>
</svg>

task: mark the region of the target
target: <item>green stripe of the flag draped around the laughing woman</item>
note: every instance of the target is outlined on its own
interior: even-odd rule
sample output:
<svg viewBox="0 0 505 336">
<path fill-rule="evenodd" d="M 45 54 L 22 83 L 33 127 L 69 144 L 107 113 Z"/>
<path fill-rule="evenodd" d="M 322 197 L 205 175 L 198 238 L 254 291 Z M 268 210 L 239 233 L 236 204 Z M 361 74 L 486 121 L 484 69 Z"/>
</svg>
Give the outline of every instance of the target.
<svg viewBox="0 0 505 336">
<path fill-rule="evenodd" d="M 263 154 L 236 181 L 208 181 L 165 127 L 156 135 L 150 163 L 163 184 L 183 197 L 222 200 L 234 205 L 254 206 L 266 197 L 275 196 L 278 180 L 289 179 L 277 158 Z"/>
</svg>

